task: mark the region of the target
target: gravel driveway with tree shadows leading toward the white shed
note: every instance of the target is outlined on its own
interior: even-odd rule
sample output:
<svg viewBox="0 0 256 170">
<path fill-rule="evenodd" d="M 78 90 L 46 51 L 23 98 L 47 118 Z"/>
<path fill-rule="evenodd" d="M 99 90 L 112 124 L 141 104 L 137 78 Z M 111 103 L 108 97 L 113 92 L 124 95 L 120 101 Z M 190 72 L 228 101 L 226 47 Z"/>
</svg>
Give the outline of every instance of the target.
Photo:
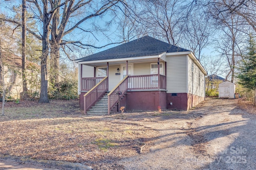
<svg viewBox="0 0 256 170">
<path fill-rule="evenodd" d="M 240 109 L 236 103 L 206 100 L 184 112 L 187 117 L 148 123 L 160 137 L 142 148 L 141 154 L 118 164 L 134 170 L 255 169 L 256 115 Z"/>
</svg>

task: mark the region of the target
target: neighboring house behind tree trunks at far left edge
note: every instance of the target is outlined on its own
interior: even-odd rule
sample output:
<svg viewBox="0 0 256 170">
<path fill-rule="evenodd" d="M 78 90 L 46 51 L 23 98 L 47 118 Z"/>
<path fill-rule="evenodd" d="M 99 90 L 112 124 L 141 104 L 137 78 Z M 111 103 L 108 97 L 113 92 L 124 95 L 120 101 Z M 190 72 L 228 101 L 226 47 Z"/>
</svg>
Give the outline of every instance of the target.
<svg viewBox="0 0 256 170">
<path fill-rule="evenodd" d="M 4 83 L 7 87 L 6 97 L 20 98 L 22 93 L 22 58 L 12 53 L 2 51 L 4 64 Z M 34 92 L 40 87 L 40 65 L 26 61 L 28 90 Z M 29 83 L 30 82 L 30 83 Z"/>
</svg>

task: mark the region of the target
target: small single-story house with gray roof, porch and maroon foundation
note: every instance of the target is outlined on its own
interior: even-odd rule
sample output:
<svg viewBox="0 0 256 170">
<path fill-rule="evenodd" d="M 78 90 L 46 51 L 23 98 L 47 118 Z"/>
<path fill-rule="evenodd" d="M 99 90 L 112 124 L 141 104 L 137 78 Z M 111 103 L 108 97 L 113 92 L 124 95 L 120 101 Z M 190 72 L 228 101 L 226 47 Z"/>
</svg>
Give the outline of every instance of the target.
<svg viewBox="0 0 256 170">
<path fill-rule="evenodd" d="M 206 71 L 194 54 L 149 36 L 76 63 L 80 107 L 85 113 L 109 114 L 120 106 L 188 110 L 205 97 Z"/>
</svg>

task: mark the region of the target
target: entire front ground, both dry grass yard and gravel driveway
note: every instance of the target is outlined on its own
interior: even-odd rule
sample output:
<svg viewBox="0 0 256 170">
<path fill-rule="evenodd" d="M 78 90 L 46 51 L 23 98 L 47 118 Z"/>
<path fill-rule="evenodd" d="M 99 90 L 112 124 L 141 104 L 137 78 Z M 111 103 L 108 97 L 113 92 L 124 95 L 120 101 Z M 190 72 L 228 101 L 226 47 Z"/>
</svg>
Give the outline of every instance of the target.
<svg viewBox="0 0 256 170">
<path fill-rule="evenodd" d="M 254 169 L 256 110 L 210 99 L 190 111 L 84 115 L 78 100 L 6 104 L 0 154 L 94 169 Z"/>
</svg>

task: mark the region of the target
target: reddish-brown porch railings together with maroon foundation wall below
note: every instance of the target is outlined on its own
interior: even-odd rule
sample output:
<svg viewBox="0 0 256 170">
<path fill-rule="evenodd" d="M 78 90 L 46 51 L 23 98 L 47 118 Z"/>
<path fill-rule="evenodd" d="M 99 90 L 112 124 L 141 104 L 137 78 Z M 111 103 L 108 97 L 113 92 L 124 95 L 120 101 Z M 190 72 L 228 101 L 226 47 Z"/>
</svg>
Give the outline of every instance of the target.
<svg viewBox="0 0 256 170">
<path fill-rule="evenodd" d="M 120 106 L 131 110 L 165 108 L 166 76 L 158 74 L 125 76 L 110 92 L 108 77 L 82 78 L 80 108 L 86 113 L 104 94 L 108 98 L 108 114 L 119 111 Z M 108 93 L 106 93 L 108 92 Z M 106 97 L 104 97 L 106 98 Z M 135 102 L 135 103 L 134 103 Z"/>
</svg>

